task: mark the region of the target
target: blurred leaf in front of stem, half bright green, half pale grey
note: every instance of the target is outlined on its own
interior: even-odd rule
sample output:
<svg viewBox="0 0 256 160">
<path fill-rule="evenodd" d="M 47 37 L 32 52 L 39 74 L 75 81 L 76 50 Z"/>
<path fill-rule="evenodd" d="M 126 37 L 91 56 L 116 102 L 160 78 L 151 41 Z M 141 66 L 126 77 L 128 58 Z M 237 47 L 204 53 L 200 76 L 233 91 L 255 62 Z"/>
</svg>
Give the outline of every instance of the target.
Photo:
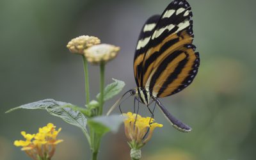
<svg viewBox="0 0 256 160">
<path fill-rule="evenodd" d="M 107 132 L 117 132 L 119 126 L 124 121 L 124 116 L 97 116 L 88 120 L 88 125 L 94 129 L 97 134 L 103 135 Z"/>
</svg>

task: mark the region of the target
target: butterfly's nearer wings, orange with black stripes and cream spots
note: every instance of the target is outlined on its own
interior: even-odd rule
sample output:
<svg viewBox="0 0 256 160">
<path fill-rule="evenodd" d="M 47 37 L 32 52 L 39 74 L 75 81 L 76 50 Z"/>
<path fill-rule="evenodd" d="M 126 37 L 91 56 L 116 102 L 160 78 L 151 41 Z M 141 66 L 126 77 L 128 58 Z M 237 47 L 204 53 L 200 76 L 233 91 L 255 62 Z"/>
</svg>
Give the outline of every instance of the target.
<svg viewBox="0 0 256 160">
<path fill-rule="evenodd" d="M 138 84 L 154 97 L 166 97 L 186 88 L 196 76 L 199 54 L 195 53 L 191 7 L 172 1 L 159 18 L 138 66 Z M 135 66 L 135 65 L 134 65 Z"/>
</svg>

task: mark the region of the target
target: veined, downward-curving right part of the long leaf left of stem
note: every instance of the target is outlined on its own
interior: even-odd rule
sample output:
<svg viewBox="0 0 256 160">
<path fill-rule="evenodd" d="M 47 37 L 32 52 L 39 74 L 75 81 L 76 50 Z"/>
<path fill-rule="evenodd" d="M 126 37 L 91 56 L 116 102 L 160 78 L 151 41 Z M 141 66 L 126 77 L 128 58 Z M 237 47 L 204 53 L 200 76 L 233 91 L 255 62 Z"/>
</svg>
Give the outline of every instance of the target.
<svg viewBox="0 0 256 160">
<path fill-rule="evenodd" d="M 63 108 L 62 106 L 54 106 L 46 109 L 51 115 L 58 116 L 68 124 L 75 125 L 82 129 L 84 133 L 87 133 L 87 119 L 80 111 L 75 111 L 72 108 Z"/>
</svg>

